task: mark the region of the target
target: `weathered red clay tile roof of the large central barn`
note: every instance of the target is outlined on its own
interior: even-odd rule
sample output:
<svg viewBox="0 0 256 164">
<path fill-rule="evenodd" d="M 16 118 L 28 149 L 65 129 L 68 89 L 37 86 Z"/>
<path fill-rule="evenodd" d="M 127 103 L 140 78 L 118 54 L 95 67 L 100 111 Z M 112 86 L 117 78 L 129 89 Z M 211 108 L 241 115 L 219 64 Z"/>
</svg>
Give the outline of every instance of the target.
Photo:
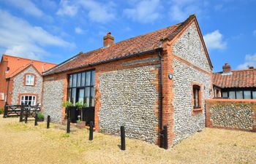
<svg viewBox="0 0 256 164">
<path fill-rule="evenodd" d="M 127 39 L 110 47 L 102 47 L 91 52 L 80 53 L 73 58 L 60 63 L 58 66 L 45 71 L 43 75 L 57 74 L 59 72 L 72 69 L 94 66 L 102 62 L 109 62 L 120 58 L 128 58 L 140 52 L 149 52 L 161 47 L 162 39 L 173 39 L 187 24 L 195 18 L 195 15 L 189 16 L 183 23 L 176 24 L 158 31 L 140 35 Z M 208 54 L 207 54 L 208 55 Z M 211 65 L 211 60 L 208 58 Z"/>
</svg>

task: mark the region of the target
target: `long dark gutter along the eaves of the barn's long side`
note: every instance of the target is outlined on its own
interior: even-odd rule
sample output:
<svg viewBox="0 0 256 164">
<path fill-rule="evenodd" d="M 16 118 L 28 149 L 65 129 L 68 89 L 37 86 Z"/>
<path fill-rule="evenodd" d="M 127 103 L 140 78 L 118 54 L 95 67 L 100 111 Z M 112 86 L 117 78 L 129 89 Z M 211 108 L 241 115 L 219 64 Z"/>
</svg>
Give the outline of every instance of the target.
<svg viewBox="0 0 256 164">
<path fill-rule="evenodd" d="M 119 58 L 112 58 L 110 60 L 104 60 L 104 61 L 99 61 L 99 62 L 96 62 L 96 63 L 90 63 L 90 64 L 86 64 L 86 65 L 82 65 L 82 66 L 77 66 L 77 67 L 74 67 L 72 69 L 67 69 L 67 70 L 63 70 L 63 71 L 56 71 L 54 73 L 49 73 L 49 74 L 46 71 L 45 73 L 42 74 L 42 76 L 48 76 L 48 75 L 51 75 L 51 74 L 59 74 L 59 73 L 65 72 L 65 71 L 72 71 L 72 70 L 75 70 L 75 69 L 83 69 L 83 68 L 86 68 L 86 67 L 89 67 L 89 66 L 97 66 L 97 65 L 102 64 L 102 63 L 110 63 L 110 62 L 113 62 L 113 61 L 116 61 L 116 60 L 121 60 L 121 59 L 124 59 L 124 58 L 131 58 L 131 57 L 135 57 L 135 56 L 140 56 L 140 55 L 146 55 L 146 54 L 149 54 L 149 53 L 159 52 L 159 50 L 162 50 L 162 48 L 157 48 L 157 49 L 154 49 L 154 50 L 148 50 L 148 51 L 144 51 L 144 52 L 138 52 L 138 53 L 130 54 L 130 55 L 124 55 L 124 56 L 121 56 Z M 66 62 L 67 62 L 67 60 L 64 61 L 63 63 L 66 63 Z"/>
</svg>

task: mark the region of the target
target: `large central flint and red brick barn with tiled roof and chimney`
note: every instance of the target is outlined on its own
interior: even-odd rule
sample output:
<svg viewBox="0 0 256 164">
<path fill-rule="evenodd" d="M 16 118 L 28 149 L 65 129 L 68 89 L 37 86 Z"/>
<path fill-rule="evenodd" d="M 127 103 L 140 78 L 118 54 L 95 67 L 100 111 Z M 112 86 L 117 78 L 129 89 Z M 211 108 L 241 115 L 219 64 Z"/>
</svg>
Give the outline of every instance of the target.
<svg viewBox="0 0 256 164">
<path fill-rule="evenodd" d="M 63 122 L 61 102 L 83 101 L 94 109 L 102 133 L 160 144 L 167 125 L 168 145 L 206 126 L 205 99 L 211 98 L 211 60 L 195 15 L 183 23 L 80 52 L 45 71 L 42 108 Z"/>
</svg>

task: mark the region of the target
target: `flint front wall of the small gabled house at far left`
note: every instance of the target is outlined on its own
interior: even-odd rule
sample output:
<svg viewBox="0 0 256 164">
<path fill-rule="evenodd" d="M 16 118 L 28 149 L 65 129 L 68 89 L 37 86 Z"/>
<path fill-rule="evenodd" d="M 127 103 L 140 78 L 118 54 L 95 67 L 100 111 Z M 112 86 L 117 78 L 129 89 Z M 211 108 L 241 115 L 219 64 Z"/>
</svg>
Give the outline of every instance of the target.
<svg viewBox="0 0 256 164">
<path fill-rule="evenodd" d="M 23 84 L 24 82 L 24 75 L 25 74 L 36 74 L 37 77 L 35 77 L 36 82 L 35 86 L 26 86 Z M 20 104 L 20 100 L 18 100 L 18 95 L 23 93 L 32 93 L 37 94 L 37 103 L 41 103 L 41 93 L 42 93 L 42 77 L 38 74 L 38 72 L 30 66 L 25 71 L 18 74 L 13 79 L 13 90 L 12 90 L 12 105 Z"/>
</svg>

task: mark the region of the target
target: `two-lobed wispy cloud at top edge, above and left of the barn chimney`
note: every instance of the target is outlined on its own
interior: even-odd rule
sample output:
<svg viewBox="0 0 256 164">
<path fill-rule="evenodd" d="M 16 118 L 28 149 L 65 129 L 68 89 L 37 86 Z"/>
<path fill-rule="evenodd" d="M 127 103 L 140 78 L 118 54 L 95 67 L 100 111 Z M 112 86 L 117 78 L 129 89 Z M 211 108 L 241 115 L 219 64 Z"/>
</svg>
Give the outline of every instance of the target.
<svg viewBox="0 0 256 164">
<path fill-rule="evenodd" d="M 57 15 L 73 17 L 81 10 L 87 12 L 87 16 L 92 22 L 107 23 L 116 18 L 114 11 L 116 4 L 111 1 L 100 3 L 92 0 L 61 0 L 60 4 L 61 7 Z"/>
</svg>

